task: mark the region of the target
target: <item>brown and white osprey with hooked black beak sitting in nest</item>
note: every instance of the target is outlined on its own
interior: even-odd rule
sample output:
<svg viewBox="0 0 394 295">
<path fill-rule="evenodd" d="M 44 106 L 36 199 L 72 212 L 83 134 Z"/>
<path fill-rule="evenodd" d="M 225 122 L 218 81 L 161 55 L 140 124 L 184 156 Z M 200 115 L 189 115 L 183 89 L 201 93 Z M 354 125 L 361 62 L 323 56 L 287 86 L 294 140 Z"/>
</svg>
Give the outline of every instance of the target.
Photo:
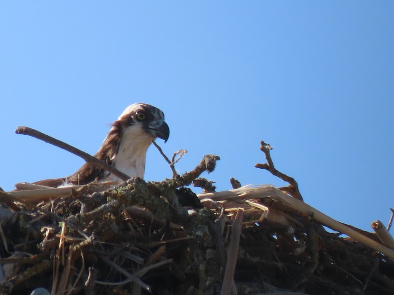
<svg viewBox="0 0 394 295">
<path fill-rule="evenodd" d="M 164 139 L 164 143 L 169 137 L 164 113 L 154 106 L 134 103 L 112 123 L 112 128 L 94 156 L 129 177 L 143 178 L 146 151 L 151 140 L 157 137 Z M 45 179 L 34 184 L 58 187 L 64 184 L 82 185 L 93 181 L 121 179 L 92 163 L 85 163 L 69 177 Z"/>
</svg>

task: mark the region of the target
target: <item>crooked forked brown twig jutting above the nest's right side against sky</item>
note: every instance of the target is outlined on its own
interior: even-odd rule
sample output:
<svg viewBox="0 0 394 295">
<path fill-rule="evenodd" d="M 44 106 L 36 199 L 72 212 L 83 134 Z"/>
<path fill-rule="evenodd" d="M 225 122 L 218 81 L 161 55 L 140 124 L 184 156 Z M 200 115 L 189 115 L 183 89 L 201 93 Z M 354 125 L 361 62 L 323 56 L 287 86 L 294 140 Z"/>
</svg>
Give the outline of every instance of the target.
<svg viewBox="0 0 394 295">
<path fill-rule="evenodd" d="M 269 151 L 272 149 L 272 147 L 269 144 L 266 144 L 263 141 L 261 141 L 260 149 L 265 154 L 265 158 L 267 159 L 268 164 L 256 164 L 255 167 L 268 170 L 272 175 L 279 177 L 283 181 L 289 182 L 290 188 L 284 187 L 281 189 L 287 191 L 289 194 L 291 194 L 296 199 L 303 201 L 301 193 L 299 192 L 299 189 L 298 189 L 297 181 L 293 177 L 287 176 L 286 174 L 283 174 L 282 172 L 275 169 L 274 163 L 273 163 L 271 155 L 269 153 Z"/>
</svg>

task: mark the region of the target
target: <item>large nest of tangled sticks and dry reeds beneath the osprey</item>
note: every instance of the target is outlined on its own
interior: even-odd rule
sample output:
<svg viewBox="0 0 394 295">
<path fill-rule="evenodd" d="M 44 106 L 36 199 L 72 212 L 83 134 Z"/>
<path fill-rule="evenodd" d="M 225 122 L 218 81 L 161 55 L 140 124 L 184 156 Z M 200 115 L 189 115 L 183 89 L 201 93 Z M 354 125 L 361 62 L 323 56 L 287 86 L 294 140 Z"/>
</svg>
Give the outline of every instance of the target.
<svg viewBox="0 0 394 295">
<path fill-rule="evenodd" d="M 289 186 L 232 180 L 214 192 L 199 176 L 219 158 L 206 155 L 161 182 L 0 192 L 0 294 L 394 294 L 388 232 L 379 223 L 383 234 L 361 232 L 305 204 L 269 149 L 262 142 L 268 164 L 256 166 Z"/>
</svg>

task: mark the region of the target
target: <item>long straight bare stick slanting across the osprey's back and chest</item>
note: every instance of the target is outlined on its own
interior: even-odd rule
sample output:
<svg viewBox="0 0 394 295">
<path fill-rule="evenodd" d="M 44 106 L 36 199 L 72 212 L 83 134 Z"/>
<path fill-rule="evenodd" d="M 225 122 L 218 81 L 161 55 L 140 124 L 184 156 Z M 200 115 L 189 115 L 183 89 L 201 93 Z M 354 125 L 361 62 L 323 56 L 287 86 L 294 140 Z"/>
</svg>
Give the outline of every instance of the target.
<svg viewBox="0 0 394 295">
<path fill-rule="evenodd" d="M 95 158 L 94 156 L 91 156 L 90 154 L 88 154 L 78 148 L 74 148 L 73 146 L 70 146 L 70 145 L 68 145 L 56 138 L 53 138 L 49 135 L 41 133 L 37 130 L 34 130 L 29 127 L 25 127 L 25 126 L 19 126 L 18 128 L 16 128 L 15 133 L 29 135 L 29 136 L 32 136 L 36 139 L 42 140 L 48 144 L 54 145 L 55 147 L 65 149 L 66 151 L 73 153 L 74 155 L 77 155 L 78 157 L 81 157 L 86 162 L 92 163 L 92 164 L 98 166 L 99 168 L 112 173 L 113 175 L 115 175 L 116 177 L 119 177 L 120 179 L 122 179 L 124 181 L 126 181 L 127 179 L 130 179 L 130 177 L 127 176 L 126 174 L 120 172 L 119 170 L 115 169 L 111 165 L 108 165 L 107 163 L 100 161 L 98 158 Z"/>
</svg>

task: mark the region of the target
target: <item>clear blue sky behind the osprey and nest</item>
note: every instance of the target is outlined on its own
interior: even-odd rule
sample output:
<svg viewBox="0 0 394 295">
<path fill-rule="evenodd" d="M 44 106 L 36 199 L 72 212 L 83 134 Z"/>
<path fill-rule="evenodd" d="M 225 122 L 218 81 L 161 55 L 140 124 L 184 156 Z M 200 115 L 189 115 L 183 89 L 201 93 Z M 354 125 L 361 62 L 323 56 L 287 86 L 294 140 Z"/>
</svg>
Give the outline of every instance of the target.
<svg viewBox="0 0 394 295">
<path fill-rule="evenodd" d="M 218 190 L 284 183 L 254 168 L 271 144 L 305 202 L 370 230 L 394 207 L 393 1 L 2 1 L 0 186 L 64 177 L 134 102 L 164 111 L 177 165 L 221 157 Z M 146 180 L 170 177 L 158 151 Z M 199 192 L 199 189 L 195 189 Z"/>
</svg>

